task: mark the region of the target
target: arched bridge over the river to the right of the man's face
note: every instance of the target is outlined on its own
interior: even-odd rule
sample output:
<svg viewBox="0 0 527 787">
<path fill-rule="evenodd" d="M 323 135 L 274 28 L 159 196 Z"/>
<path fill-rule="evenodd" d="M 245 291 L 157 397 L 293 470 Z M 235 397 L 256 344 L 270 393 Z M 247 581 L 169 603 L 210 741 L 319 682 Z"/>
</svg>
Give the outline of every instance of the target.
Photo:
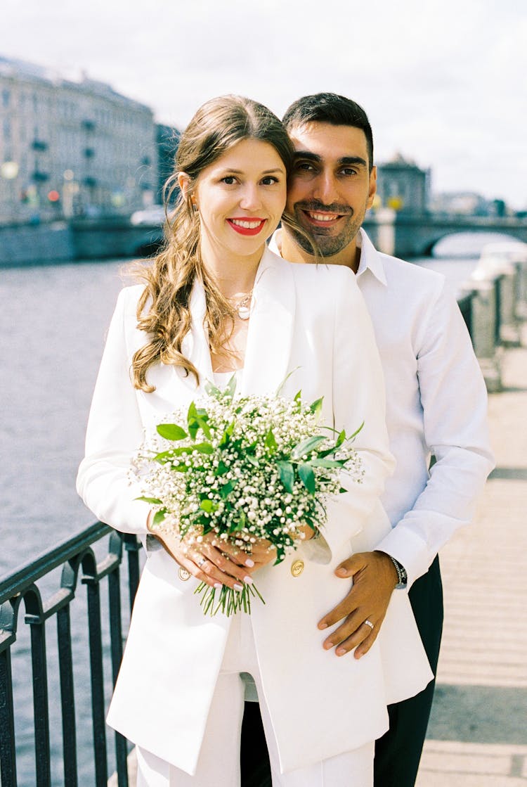
<svg viewBox="0 0 527 787">
<path fill-rule="evenodd" d="M 396 213 L 384 209 L 368 213 L 363 226 L 380 251 L 396 257 L 429 257 L 441 238 L 458 232 L 499 232 L 527 242 L 527 219 L 509 216 Z"/>
</svg>

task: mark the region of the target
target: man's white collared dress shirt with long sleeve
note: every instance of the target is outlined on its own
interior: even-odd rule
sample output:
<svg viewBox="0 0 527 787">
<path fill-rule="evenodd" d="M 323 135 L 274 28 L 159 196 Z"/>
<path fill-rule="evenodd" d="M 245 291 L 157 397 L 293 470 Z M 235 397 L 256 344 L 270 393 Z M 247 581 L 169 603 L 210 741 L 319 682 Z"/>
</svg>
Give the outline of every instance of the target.
<svg viewBox="0 0 527 787">
<path fill-rule="evenodd" d="M 278 231 L 271 249 L 279 243 Z M 410 588 L 455 530 L 470 523 L 494 467 L 487 393 L 444 276 L 378 252 L 362 229 L 357 245 L 357 283 L 381 353 L 397 463 L 382 497 L 392 531 L 377 549 L 402 563 Z"/>
</svg>

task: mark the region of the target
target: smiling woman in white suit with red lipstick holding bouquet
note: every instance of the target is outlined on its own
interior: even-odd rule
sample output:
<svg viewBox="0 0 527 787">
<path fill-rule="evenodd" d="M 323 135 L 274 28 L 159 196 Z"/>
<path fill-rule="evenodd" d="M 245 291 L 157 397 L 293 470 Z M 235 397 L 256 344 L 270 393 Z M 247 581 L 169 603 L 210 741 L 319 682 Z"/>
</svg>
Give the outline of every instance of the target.
<svg viewBox="0 0 527 787">
<path fill-rule="evenodd" d="M 191 120 L 166 246 L 145 271 L 146 286 L 123 290 L 112 319 L 78 489 L 103 521 L 149 536 L 151 513 L 128 479 L 144 430 L 234 371 L 241 393 L 271 394 L 297 369 L 282 395 L 300 388 L 305 401 L 323 397 L 322 423 L 348 433 L 364 421 L 355 448 L 366 475 L 331 505 L 323 538 L 311 541 L 306 528 L 278 566 L 267 544 L 246 557 L 207 539 L 187 546 L 157 534 L 162 545 L 153 549 L 146 538 L 109 710 L 109 724 L 138 747 L 142 787 L 239 784 L 245 673 L 258 690 L 275 787 L 367 787 L 386 704 L 432 677 L 406 594 L 381 631 L 394 662 L 382 659 L 380 642 L 361 660 L 331 657 L 316 629 L 341 595 L 333 571 L 354 538 L 364 549 L 389 527 L 378 497 L 392 457 L 380 361 L 354 277 L 289 264 L 265 245 L 289 220 L 292 165 L 282 125 L 255 102 L 214 99 Z M 203 615 L 197 582 L 240 588 L 255 573 L 265 606 L 253 604 L 250 616 Z"/>
</svg>

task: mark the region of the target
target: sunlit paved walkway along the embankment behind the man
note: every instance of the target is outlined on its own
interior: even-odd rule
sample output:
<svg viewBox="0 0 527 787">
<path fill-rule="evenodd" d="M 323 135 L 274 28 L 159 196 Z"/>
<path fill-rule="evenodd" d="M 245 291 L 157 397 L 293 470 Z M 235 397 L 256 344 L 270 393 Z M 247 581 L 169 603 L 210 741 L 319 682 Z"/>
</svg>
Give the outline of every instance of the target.
<svg viewBox="0 0 527 787">
<path fill-rule="evenodd" d="M 489 397 L 496 470 L 440 555 L 444 638 L 417 787 L 527 787 L 527 341 L 504 354 L 503 386 Z"/>
</svg>

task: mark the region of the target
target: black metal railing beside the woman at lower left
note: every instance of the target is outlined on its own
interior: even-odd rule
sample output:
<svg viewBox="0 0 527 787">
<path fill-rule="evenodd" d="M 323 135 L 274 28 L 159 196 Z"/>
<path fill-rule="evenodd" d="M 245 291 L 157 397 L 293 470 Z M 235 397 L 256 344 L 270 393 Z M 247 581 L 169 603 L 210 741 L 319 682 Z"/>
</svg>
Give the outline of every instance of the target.
<svg viewBox="0 0 527 787">
<path fill-rule="evenodd" d="M 94 545 L 108 537 L 108 550 L 98 560 Z M 100 522 L 57 545 L 31 563 L 27 563 L 0 582 L 0 774 L 2 787 L 17 787 L 17 740 L 13 710 L 13 656 L 18 658 L 17 642 L 20 608 L 24 603 L 24 623 L 30 632 L 31 684 L 33 696 L 32 737 L 35 741 L 35 785 L 51 787 L 52 757 L 50 747 L 50 696 L 46 649 L 46 623 L 57 624 L 57 661 L 61 707 L 61 767 L 64 787 L 79 787 L 76 726 L 76 677 L 79 665 L 72 648 L 70 607 L 79 582 L 87 588 L 87 641 L 89 667 L 83 661 L 81 681 L 89 685 L 91 700 L 90 727 L 94 751 L 94 785 L 106 787 L 108 753 L 105 729 L 104 662 L 111 663 L 115 683 L 123 653 L 123 615 L 120 567 L 123 545 L 127 552 L 127 586 L 129 607 L 133 604 L 139 581 L 141 545 L 134 535 L 119 534 Z M 100 545 L 99 545 L 100 546 Z M 47 598 L 37 582 L 49 580 L 61 568 L 59 588 Z M 101 605 L 101 583 L 108 578 L 108 604 Z M 101 609 L 104 608 L 104 614 Z M 105 620 L 105 617 L 107 619 Z M 103 643 L 103 623 L 109 628 L 109 648 Z M 26 659 L 28 661 L 29 659 Z M 29 670 L 29 665 L 25 666 Z M 26 687 L 27 688 L 27 687 Z M 54 703 L 53 703 L 54 704 Z M 116 733 L 115 763 L 119 787 L 128 787 L 127 741 Z M 85 782 L 83 781 L 82 787 Z M 33 787 L 20 785 L 20 787 Z"/>
</svg>

